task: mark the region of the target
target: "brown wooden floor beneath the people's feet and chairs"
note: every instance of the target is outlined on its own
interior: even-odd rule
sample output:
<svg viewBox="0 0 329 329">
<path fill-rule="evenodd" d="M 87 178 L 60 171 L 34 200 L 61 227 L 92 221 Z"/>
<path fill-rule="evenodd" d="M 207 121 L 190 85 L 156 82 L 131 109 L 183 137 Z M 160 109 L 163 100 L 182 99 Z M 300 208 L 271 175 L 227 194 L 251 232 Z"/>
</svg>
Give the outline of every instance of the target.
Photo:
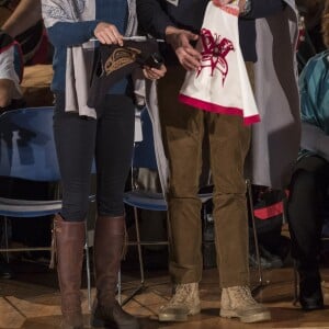
<svg viewBox="0 0 329 329">
<path fill-rule="evenodd" d="M 23 266 L 23 268 L 22 268 Z M 129 275 L 127 275 L 127 273 Z M 243 329 L 243 328 L 329 328 L 329 307 L 325 310 L 303 313 L 293 305 L 293 271 L 291 268 L 264 271 L 265 286 L 257 298 L 270 307 L 270 322 L 242 325 L 238 320 L 222 319 L 219 311 L 219 287 L 217 271 L 205 270 L 201 283 L 202 313 L 193 316 L 188 322 L 160 324 L 157 310 L 169 299 L 171 286 L 167 271 L 149 271 L 146 288 L 125 305 L 125 309 L 136 315 L 141 328 L 177 329 Z M 252 282 L 257 283 L 257 273 L 252 272 Z M 329 282 L 329 270 L 322 270 L 324 280 Z M 123 273 L 123 297 L 131 291 L 127 281 L 138 284 L 137 275 Z M 326 304 L 329 305 L 329 286 L 324 285 Z M 83 294 L 83 313 L 86 324 L 89 321 L 87 290 Z M 59 328 L 60 305 L 54 271 L 24 263 L 18 265 L 14 280 L 0 281 L 0 328 Z M 94 290 L 92 290 L 94 295 Z"/>
</svg>

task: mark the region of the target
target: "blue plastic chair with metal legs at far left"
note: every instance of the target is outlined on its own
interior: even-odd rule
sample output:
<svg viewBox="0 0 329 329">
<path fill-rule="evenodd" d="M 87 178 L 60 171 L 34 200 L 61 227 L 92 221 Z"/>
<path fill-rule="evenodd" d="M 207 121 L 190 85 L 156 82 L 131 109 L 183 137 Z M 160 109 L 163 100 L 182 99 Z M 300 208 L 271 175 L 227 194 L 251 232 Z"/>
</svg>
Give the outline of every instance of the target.
<svg viewBox="0 0 329 329">
<path fill-rule="evenodd" d="M 19 109 L 0 114 L 0 177 L 49 183 L 60 180 L 53 135 L 53 106 Z M 94 198 L 94 195 L 90 196 L 91 202 Z M 55 215 L 60 209 L 61 200 L 57 196 L 54 200 L 0 197 L 0 216 L 4 217 L 42 217 Z M 50 250 L 49 246 L 9 248 L 8 239 L 5 247 L 1 248 L 0 252 Z M 88 240 L 84 249 L 90 305 Z"/>
</svg>

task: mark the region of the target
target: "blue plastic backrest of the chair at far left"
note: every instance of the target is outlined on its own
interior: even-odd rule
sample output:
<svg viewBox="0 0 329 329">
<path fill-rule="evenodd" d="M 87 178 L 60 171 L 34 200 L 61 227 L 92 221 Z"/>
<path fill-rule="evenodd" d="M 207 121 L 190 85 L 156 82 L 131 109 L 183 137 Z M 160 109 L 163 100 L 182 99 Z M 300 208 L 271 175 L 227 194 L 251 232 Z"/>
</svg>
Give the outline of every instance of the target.
<svg viewBox="0 0 329 329">
<path fill-rule="evenodd" d="M 53 106 L 19 109 L 0 115 L 0 177 L 47 182 L 60 179 L 53 115 Z"/>
</svg>

